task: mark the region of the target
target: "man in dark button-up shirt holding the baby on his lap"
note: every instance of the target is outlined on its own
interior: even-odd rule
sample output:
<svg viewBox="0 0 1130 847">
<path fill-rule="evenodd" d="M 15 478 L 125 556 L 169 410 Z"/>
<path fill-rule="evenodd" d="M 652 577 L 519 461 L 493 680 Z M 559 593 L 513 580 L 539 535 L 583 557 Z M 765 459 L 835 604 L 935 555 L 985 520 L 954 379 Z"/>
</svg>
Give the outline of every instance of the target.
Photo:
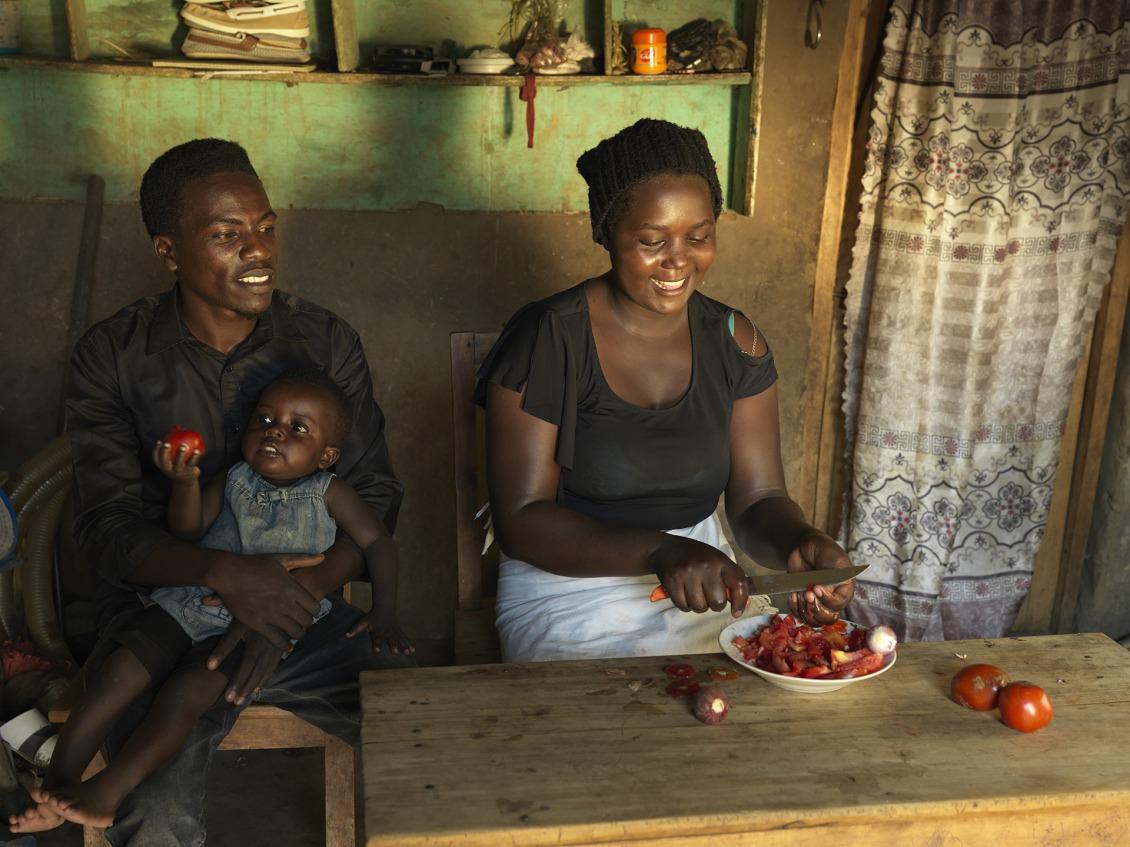
<svg viewBox="0 0 1130 847">
<path fill-rule="evenodd" d="M 246 152 L 217 139 L 168 150 L 142 178 L 141 215 L 176 281 L 98 323 L 75 348 L 67 403 L 75 529 L 101 577 L 99 643 L 88 673 L 97 673 L 98 661 L 116 644 L 160 649 L 147 645 L 137 626 L 139 592 L 203 585 L 235 618 L 219 644 L 207 648 L 209 665 L 231 672 L 228 702 L 214 707 L 176 758 L 127 798 L 107 832 L 114 845 L 195 845 L 203 840 L 208 763 L 240 708 L 258 696 L 356 743 L 357 674 L 411 660 L 388 649 L 374 655 L 368 639 L 346 638 L 360 612 L 334 592 L 362 573 L 363 557 L 342 533 L 324 558 L 301 561 L 173 539 L 163 523 L 169 483 L 150 459 L 154 444 L 174 424 L 195 429 L 206 445 L 201 479 L 223 473 L 238 457 L 242 429 L 262 388 L 284 372 L 313 367 L 341 385 L 353 405 L 353 431 L 336 472 L 390 531 L 401 486 L 357 333 L 275 287 L 276 215 Z M 287 568 L 313 562 L 320 564 Z M 325 596 L 332 610 L 311 626 Z M 299 640 L 289 652 L 293 639 Z M 147 705 L 137 704 L 136 718 Z M 136 718 L 115 727 L 112 751 Z M 41 813 L 49 812 L 41 806 Z"/>
</svg>

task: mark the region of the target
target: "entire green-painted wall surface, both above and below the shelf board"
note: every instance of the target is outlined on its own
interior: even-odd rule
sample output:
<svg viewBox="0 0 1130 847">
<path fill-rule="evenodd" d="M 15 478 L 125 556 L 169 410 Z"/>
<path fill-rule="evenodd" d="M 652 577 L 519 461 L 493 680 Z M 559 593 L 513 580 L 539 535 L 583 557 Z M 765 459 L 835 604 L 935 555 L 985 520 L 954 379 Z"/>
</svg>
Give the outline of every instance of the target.
<svg viewBox="0 0 1130 847">
<path fill-rule="evenodd" d="M 86 0 L 95 58 L 179 55 L 179 0 Z M 24 52 L 67 54 L 62 2 L 21 6 Z M 510 0 L 357 0 L 362 62 L 376 44 L 437 54 L 498 44 Z M 568 29 L 599 51 L 601 0 L 566 5 Z M 741 0 L 617 0 L 614 17 L 671 27 L 690 18 L 740 21 Z M 308 3 L 312 49 L 332 67 L 329 0 Z M 0 71 L 0 197 L 80 199 L 84 175 L 130 201 L 146 166 L 183 140 L 218 136 L 251 152 L 279 208 L 391 210 L 431 202 L 460 210 L 583 211 L 573 163 L 641 116 L 701 128 L 722 185 L 741 169 L 748 87 L 544 85 L 533 149 L 513 87 L 287 84 L 53 69 Z M 740 138 L 734 150 L 733 139 Z M 736 166 L 736 163 L 737 164 Z M 740 182 L 740 180 L 739 180 Z M 741 208 L 737 195 L 728 206 Z"/>
</svg>

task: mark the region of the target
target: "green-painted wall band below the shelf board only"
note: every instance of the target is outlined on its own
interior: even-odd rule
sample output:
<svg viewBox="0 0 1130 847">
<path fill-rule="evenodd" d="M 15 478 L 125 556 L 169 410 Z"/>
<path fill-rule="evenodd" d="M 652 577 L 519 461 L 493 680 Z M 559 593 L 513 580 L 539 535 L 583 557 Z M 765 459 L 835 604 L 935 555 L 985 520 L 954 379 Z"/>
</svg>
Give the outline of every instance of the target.
<svg viewBox="0 0 1130 847">
<path fill-rule="evenodd" d="M 243 143 L 279 208 L 586 209 L 574 163 L 638 116 L 699 126 L 730 178 L 728 86 L 542 87 L 533 149 L 510 87 L 180 79 L 14 68 L 0 72 L 0 197 L 136 197 L 162 151 L 190 138 Z"/>
</svg>

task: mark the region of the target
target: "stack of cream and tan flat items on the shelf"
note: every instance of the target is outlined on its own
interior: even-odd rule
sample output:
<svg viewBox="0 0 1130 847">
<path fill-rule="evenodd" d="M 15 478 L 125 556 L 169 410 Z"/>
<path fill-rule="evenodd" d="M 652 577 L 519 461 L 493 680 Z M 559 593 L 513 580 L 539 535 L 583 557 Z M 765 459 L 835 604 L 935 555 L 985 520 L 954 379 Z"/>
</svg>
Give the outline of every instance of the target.
<svg viewBox="0 0 1130 847">
<path fill-rule="evenodd" d="M 190 59 L 241 59 L 301 64 L 310 61 L 306 0 L 186 0 L 181 18 Z"/>
</svg>

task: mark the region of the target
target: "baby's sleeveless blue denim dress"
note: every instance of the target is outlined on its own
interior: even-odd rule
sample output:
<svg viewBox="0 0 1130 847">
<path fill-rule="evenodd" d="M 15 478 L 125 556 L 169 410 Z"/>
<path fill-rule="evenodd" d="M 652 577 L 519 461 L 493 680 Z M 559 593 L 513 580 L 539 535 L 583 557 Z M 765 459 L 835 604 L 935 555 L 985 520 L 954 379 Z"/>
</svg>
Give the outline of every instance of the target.
<svg viewBox="0 0 1130 847">
<path fill-rule="evenodd" d="M 262 553 L 321 553 L 333 545 L 338 524 L 325 510 L 325 489 L 332 473 L 318 471 L 279 488 L 260 477 L 246 462 L 227 472 L 224 505 L 200 547 L 249 556 Z M 149 600 L 176 620 L 193 644 L 218 636 L 232 622 L 223 605 L 205 605 L 212 594 L 202 586 L 157 588 Z M 314 620 L 330 611 L 322 600 Z"/>
</svg>

